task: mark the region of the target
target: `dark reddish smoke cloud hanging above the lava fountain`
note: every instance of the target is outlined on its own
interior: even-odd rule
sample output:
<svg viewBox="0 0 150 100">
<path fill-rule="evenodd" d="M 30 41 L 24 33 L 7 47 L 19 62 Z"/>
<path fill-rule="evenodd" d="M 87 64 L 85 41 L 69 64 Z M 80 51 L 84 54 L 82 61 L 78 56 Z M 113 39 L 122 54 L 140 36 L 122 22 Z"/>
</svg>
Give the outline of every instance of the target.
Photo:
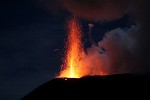
<svg viewBox="0 0 150 100">
<path fill-rule="evenodd" d="M 85 19 L 111 20 L 124 15 L 129 0 L 61 0 L 72 14 Z"/>
</svg>

